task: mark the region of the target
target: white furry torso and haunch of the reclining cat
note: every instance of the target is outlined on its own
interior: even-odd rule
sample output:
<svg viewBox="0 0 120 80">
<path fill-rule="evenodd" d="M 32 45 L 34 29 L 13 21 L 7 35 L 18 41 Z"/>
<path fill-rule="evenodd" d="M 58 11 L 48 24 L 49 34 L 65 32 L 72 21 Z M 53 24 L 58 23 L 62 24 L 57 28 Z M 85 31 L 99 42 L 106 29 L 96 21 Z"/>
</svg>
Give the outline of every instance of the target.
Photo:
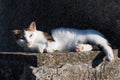
<svg viewBox="0 0 120 80">
<path fill-rule="evenodd" d="M 103 35 L 95 30 L 77 30 L 58 28 L 52 30 L 52 36 L 59 45 L 59 50 L 73 50 L 78 44 L 108 45 Z"/>
</svg>

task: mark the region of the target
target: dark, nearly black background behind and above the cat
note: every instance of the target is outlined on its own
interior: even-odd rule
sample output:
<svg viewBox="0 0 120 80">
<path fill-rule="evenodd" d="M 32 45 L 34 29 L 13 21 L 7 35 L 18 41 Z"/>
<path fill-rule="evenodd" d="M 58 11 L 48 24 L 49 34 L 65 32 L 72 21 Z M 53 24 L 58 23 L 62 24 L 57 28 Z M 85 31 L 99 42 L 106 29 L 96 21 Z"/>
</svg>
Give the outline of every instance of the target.
<svg viewBox="0 0 120 80">
<path fill-rule="evenodd" d="M 38 29 L 95 29 L 120 47 L 120 0 L 0 0 L 0 51 L 20 51 L 12 29 L 36 21 Z"/>
</svg>

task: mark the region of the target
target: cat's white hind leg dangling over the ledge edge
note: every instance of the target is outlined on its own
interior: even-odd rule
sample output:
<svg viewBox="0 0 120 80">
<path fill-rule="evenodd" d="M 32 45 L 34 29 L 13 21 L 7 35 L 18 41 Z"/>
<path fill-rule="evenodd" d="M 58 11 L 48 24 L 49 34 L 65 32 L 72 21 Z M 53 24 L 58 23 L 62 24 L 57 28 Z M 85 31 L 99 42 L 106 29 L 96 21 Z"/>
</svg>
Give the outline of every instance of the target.
<svg viewBox="0 0 120 80">
<path fill-rule="evenodd" d="M 106 54 L 106 60 L 108 61 L 114 60 L 113 50 L 109 46 L 109 43 L 105 38 L 99 35 L 89 35 L 87 36 L 87 41 L 95 45 L 100 45 L 104 53 Z"/>
</svg>

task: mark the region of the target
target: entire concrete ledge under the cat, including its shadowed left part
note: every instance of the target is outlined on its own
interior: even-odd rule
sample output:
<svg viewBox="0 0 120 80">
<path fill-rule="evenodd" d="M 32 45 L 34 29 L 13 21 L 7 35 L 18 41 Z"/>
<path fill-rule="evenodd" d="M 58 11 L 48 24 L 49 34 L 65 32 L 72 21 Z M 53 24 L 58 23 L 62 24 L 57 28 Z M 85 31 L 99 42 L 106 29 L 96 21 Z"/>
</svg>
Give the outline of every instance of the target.
<svg viewBox="0 0 120 80">
<path fill-rule="evenodd" d="M 101 51 L 0 52 L 0 80 L 120 80 L 120 55 L 113 51 L 113 62 Z"/>
</svg>

